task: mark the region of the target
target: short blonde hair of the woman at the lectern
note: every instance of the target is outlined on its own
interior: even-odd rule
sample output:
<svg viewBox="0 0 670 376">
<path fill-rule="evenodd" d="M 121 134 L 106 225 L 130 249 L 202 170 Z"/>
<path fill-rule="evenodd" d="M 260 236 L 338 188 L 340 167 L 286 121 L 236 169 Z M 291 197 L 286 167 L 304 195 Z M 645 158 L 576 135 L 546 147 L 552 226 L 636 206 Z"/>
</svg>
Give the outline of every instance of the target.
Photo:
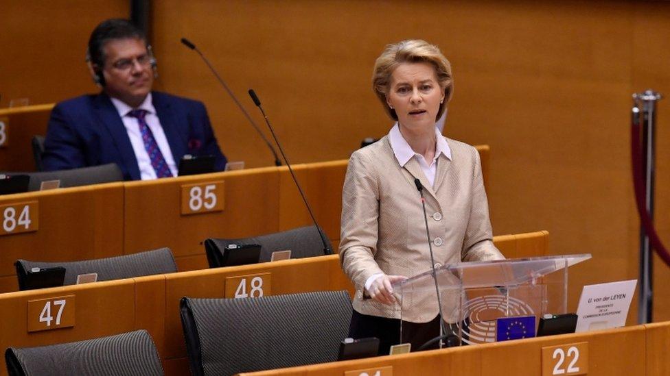
<svg viewBox="0 0 670 376">
<path fill-rule="evenodd" d="M 384 52 L 377 58 L 375 68 L 372 73 L 372 88 L 377 97 L 382 101 L 386 112 L 397 121 L 397 114 L 393 108 L 389 108 L 386 103 L 386 95 L 389 94 L 391 75 L 393 71 L 402 63 L 427 62 L 435 67 L 437 81 L 444 87 L 444 103 L 440 103 L 435 121 L 442 116 L 446 104 L 451 100 L 454 91 L 454 83 L 451 76 L 451 64 L 447 58 L 442 55 L 439 48 L 431 45 L 425 40 L 413 39 L 403 40 L 393 45 L 387 45 Z"/>
</svg>

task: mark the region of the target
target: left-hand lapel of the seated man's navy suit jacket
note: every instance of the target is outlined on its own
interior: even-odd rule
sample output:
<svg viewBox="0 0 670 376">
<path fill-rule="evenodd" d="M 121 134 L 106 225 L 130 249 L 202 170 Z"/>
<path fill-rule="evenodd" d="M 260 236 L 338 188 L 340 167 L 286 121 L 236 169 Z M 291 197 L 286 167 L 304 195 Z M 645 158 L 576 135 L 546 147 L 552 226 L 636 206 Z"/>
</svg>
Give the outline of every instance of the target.
<svg viewBox="0 0 670 376">
<path fill-rule="evenodd" d="M 135 151 L 132 151 L 130 138 L 128 138 L 128 132 L 126 132 L 126 127 L 121 120 L 121 116 L 119 116 L 119 112 L 104 93 L 95 97 L 94 105 L 100 122 L 104 124 L 104 127 L 106 127 L 112 137 L 114 145 L 119 149 L 119 155 L 121 155 L 121 159 L 126 165 L 128 175 L 134 180 L 139 179 L 139 166 L 137 165 Z"/>
</svg>

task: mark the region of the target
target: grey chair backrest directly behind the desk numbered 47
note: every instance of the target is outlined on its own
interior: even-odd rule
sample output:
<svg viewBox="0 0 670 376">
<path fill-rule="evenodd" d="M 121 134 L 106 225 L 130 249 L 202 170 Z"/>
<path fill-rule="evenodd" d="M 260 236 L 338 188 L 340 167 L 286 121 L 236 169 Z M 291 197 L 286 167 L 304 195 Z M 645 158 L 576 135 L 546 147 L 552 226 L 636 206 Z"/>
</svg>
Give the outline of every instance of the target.
<svg viewBox="0 0 670 376">
<path fill-rule="evenodd" d="M 24 290 L 25 276 L 32 268 L 62 266 L 65 268 L 65 281 L 63 281 L 65 285 L 76 284 L 77 276 L 80 274 L 97 273 L 98 281 L 108 281 L 110 279 L 141 277 L 143 275 L 174 273 L 177 271 L 174 256 L 169 248 L 132 253 L 113 258 L 74 262 L 17 260 L 14 265 L 16 266 L 16 276 L 19 277 L 19 290 Z"/>
</svg>

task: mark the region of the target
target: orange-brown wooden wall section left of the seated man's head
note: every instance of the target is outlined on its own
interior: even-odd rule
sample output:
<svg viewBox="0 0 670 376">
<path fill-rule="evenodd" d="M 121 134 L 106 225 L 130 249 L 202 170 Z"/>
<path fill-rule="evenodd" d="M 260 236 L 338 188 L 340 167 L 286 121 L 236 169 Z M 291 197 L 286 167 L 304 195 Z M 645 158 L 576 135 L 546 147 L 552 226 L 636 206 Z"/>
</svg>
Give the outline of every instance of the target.
<svg viewBox="0 0 670 376">
<path fill-rule="evenodd" d="M 27 98 L 53 103 L 97 92 L 84 62 L 93 28 L 105 18 L 128 17 L 125 0 L 0 1 L 0 107 Z"/>
</svg>

